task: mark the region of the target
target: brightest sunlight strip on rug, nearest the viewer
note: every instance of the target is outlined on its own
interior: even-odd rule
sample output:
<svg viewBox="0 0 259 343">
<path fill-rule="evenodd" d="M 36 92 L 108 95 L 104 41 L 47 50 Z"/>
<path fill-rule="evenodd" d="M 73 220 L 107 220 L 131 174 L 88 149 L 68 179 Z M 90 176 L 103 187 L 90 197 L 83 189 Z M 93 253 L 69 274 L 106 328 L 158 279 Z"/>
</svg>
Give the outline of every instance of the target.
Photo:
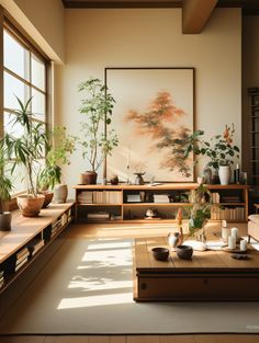
<svg viewBox="0 0 259 343">
<path fill-rule="evenodd" d="M 120 293 L 112 295 L 101 295 L 93 297 L 80 297 L 80 298 L 65 298 L 61 299 L 57 309 L 72 309 L 82 307 L 93 307 L 93 306 L 109 306 L 109 305 L 120 305 L 120 304 L 131 304 L 133 302 L 132 293 Z"/>
</svg>

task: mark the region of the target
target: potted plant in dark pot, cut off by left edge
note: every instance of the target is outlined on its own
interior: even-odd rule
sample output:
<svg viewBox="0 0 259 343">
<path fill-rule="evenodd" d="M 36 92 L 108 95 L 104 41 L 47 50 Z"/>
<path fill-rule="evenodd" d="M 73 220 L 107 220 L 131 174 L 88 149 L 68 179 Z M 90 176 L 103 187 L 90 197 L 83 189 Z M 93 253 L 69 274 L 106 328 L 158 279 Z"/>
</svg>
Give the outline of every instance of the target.
<svg viewBox="0 0 259 343">
<path fill-rule="evenodd" d="M 0 141 L 0 231 L 11 230 L 11 213 L 5 210 L 7 202 L 11 199 L 12 190 L 11 180 L 4 174 L 5 165 L 5 146 L 4 139 Z"/>
</svg>

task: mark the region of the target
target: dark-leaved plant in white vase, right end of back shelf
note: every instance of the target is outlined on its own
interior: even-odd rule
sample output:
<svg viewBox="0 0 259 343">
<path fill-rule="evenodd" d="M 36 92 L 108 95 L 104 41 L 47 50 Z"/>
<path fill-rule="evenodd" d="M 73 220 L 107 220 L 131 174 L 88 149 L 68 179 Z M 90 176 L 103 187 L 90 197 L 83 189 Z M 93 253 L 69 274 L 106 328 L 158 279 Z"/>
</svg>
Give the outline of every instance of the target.
<svg viewBox="0 0 259 343">
<path fill-rule="evenodd" d="M 209 141 L 202 138 L 202 136 L 204 135 L 203 130 L 194 132 L 192 135 L 187 137 L 184 141 L 181 141 L 181 145 L 184 146 L 183 161 L 187 160 L 191 153 L 194 153 L 194 156 L 198 157 L 194 160 L 194 164 L 199 162 L 199 157 L 207 157 L 210 159 L 206 164 L 207 168 L 214 168 L 216 170 L 216 173 L 219 172 L 219 170 L 225 169 L 228 175 L 226 180 L 222 178 L 221 183 L 229 183 L 229 167 L 234 163 L 234 158 L 239 158 L 239 148 L 233 144 L 234 134 L 234 124 L 232 124 L 232 127 L 225 125 L 223 134 L 213 136 Z"/>
</svg>

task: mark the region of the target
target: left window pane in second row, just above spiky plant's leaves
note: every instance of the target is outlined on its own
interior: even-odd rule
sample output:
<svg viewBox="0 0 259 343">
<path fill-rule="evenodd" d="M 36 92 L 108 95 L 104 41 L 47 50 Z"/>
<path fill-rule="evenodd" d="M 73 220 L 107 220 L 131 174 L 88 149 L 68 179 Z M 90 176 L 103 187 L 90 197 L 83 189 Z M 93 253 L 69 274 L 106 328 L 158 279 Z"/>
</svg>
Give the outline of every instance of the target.
<svg viewBox="0 0 259 343">
<path fill-rule="evenodd" d="M 22 101 L 25 102 L 29 99 L 29 85 L 12 77 L 4 71 L 4 99 L 3 106 L 5 108 L 19 108 L 19 103 L 15 95 Z"/>
</svg>

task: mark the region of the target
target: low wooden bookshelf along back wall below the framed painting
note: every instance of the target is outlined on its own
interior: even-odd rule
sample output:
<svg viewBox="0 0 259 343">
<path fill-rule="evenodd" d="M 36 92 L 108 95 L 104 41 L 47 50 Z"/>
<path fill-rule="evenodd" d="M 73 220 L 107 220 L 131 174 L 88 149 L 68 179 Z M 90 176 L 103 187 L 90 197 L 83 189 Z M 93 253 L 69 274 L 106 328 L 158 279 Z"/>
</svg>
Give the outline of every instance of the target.
<svg viewBox="0 0 259 343">
<path fill-rule="evenodd" d="M 77 221 L 90 222 L 160 222 L 162 220 L 172 221 L 176 218 L 176 213 L 179 207 L 190 208 L 189 194 L 191 190 L 198 187 L 196 183 L 165 183 L 158 185 L 75 185 L 76 206 L 75 219 Z M 228 221 L 246 221 L 248 216 L 248 185 L 240 184 L 210 184 L 207 188 L 212 193 L 218 193 L 219 207 L 222 213 L 213 214 L 212 220 Z M 106 202 L 95 203 L 94 199 L 105 198 Z M 110 196 L 111 193 L 113 193 Z M 98 193 L 98 195 L 97 195 Z M 128 196 L 133 196 L 128 201 Z M 154 195 L 169 195 L 168 202 L 156 203 Z M 235 201 L 229 202 L 229 197 Z M 88 199 L 86 202 L 86 198 Z M 116 198 L 115 203 L 110 203 L 110 198 Z M 145 214 L 148 208 L 158 211 L 158 218 L 145 219 Z M 225 208 L 225 209 L 224 209 Z M 224 211 L 225 210 L 225 211 Z"/>
</svg>

